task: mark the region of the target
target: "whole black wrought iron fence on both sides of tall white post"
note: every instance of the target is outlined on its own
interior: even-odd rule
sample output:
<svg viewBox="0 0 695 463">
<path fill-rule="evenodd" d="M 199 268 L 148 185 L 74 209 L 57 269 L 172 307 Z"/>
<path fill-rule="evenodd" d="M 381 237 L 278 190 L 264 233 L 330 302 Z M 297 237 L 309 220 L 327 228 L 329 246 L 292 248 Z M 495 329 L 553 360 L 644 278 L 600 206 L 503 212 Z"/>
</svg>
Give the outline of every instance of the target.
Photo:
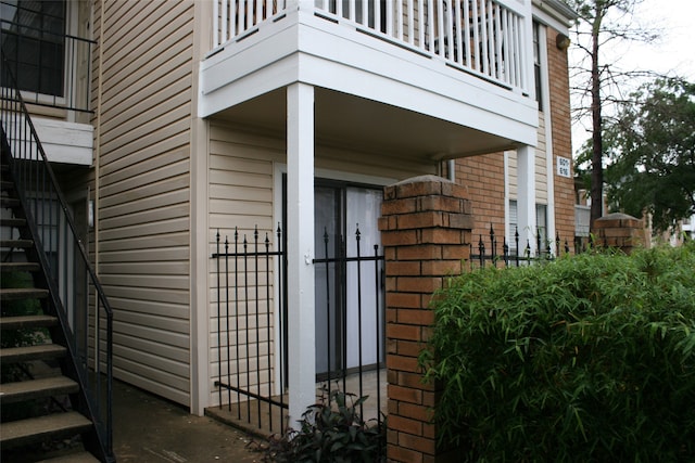
<svg viewBox="0 0 695 463">
<path fill-rule="evenodd" d="M 216 330 L 219 409 L 258 429 L 283 432 L 288 402 L 287 254 L 282 229 L 250 239 L 235 229 L 231 241 L 216 235 Z M 383 255 L 378 246 L 363 255 L 357 230 L 351 246 L 324 235 L 323 258 L 314 259 L 316 279 L 317 388 L 339 388 L 358 397 L 365 417 L 381 425 L 384 357 Z M 336 245 L 336 246 L 333 246 Z M 331 252 L 330 249 L 337 249 Z M 355 255 L 349 256 L 349 250 Z M 317 250 L 317 254 L 321 254 Z M 325 271 L 325 274 L 321 274 Z M 277 273 L 276 273 L 277 272 Z M 368 286 L 367 286 L 368 285 Z M 277 322 L 277 326 L 275 323 Z M 317 359 L 317 363 L 321 360 Z M 375 397 L 376 396 L 376 397 Z M 366 419 L 365 419 L 366 420 Z M 279 428 L 277 427 L 279 425 Z"/>
</svg>

